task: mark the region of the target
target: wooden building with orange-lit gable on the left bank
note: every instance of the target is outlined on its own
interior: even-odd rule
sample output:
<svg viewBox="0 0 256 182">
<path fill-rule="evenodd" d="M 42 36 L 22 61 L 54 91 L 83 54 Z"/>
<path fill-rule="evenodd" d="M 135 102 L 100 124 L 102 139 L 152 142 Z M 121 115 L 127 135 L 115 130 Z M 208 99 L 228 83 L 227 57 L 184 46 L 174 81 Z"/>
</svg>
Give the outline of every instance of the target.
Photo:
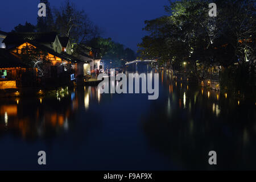
<svg viewBox="0 0 256 182">
<path fill-rule="evenodd" d="M 57 86 L 59 84 L 68 84 L 68 82 L 75 81 L 76 76 L 80 74 L 84 75 L 84 65 L 88 65 L 90 60 L 81 60 L 75 56 L 72 56 L 72 47 L 69 39 L 60 38 L 60 40 L 56 32 L 7 34 L 6 38 L 3 40 L 3 43 L 6 45 L 6 49 L 2 50 L 3 54 L 1 56 L 1 62 L 4 65 L 9 63 L 9 60 L 11 59 L 15 61 L 10 63 L 13 65 L 10 65 L 8 69 L 5 66 L 1 66 L 2 70 L 9 70 L 9 74 L 7 74 L 8 77 L 4 79 L 9 81 L 15 80 L 16 87 L 35 86 L 36 84 Z M 46 53 L 44 60 L 46 60 L 47 64 L 44 64 L 39 68 L 35 65 L 27 65 L 24 63 L 24 55 L 26 55 L 26 53 L 24 53 L 24 49 L 28 48 L 37 49 L 40 52 Z M 39 56 L 39 58 L 40 57 L 43 57 L 43 53 L 42 56 Z M 19 63 L 19 67 L 14 63 Z M 13 74 L 10 74 L 11 69 L 13 70 Z M 18 74 L 18 72 L 14 73 L 17 69 L 19 70 L 19 73 L 21 72 L 20 70 L 24 71 L 21 74 L 22 76 Z M 30 72 L 28 72 L 28 70 Z M 80 70 L 82 73 L 80 73 Z M 36 84 L 24 84 L 24 80 L 26 80 L 23 79 L 22 81 L 22 77 L 24 77 L 24 75 L 29 75 L 29 77 L 33 80 L 31 81 L 29 78 L 27 78 L 29 82 L 35 82 Z M 5 88 L 5 86 L 2 88 Z"/>
</svg>

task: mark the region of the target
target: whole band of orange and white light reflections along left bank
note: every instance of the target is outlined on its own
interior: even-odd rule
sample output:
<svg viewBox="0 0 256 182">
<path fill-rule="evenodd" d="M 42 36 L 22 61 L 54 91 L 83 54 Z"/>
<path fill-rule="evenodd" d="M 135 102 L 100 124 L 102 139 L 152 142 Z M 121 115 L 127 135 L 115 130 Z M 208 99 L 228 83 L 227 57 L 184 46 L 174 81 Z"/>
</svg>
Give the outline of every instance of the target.
<svg viewBox="0 0 256 182">
<path fill-rule="evenodd" d="M 89 109 L 89 100 L 101 94 L 96 87 L 84 87 L 84 108 Z M 1 98 L 0 134 L 19 134 L 23 139 L 55 136 L 68 131 L 72 119 L 81 108 L 81 88 L 52 90 L 47 96 L 35 98 Z"/>
</svg>

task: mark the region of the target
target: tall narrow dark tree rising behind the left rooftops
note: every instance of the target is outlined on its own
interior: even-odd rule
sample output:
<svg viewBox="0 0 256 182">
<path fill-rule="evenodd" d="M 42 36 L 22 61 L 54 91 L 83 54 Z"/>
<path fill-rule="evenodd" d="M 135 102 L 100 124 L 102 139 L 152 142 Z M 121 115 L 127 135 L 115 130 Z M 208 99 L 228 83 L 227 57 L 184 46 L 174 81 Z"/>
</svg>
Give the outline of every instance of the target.
<svg viewBox="0 0 256 182">
<path fill-rule="evenodd" d="M 41 3 L 46 4 L 46 17 L 38 17 L 38 23 L 36 29 L 38 32 L 49 32 L 53 31 L 53 16 L 48 0 L 40 0 Z"/>
</svg>

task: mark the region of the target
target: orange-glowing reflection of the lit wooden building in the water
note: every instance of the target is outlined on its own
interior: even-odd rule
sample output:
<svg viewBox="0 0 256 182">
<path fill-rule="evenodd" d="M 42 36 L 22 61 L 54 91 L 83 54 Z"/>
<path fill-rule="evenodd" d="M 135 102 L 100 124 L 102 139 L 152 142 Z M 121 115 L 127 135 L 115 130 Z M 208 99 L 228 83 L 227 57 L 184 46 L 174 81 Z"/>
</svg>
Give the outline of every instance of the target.
<svg viewBox="0 0 256 182">
<path fill-rule="evenodd" d="M 49 102 L 43 100 L 39 105 L 36 101 L 38 100 L 32 99 L 31 103 L 26 105 L 26 109 L 24 109 L 23 102 L 17 99 L 10 99 L 6 104 L 2 103 L 0 118 L 4 122 L 0 122 L 0 132 L 9 131 L 18 133 L 23 138 L 37 138 L 49 132 L 54 134 L 69 129 L 69 119 L 73 114 L 70 105 L 61 105 L 60 102 L 53 100 Z M 45 104 L 55 105 L 62 109 L 52 110 Z"/>
</svg>

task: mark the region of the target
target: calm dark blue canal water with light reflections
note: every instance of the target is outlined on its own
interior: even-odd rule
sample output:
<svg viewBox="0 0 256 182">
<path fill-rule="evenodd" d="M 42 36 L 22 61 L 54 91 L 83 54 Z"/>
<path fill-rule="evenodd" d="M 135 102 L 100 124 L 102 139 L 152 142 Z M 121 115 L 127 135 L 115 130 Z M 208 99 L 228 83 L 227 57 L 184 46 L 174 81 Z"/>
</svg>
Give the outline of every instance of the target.
<svg viewBox="0 0 256 182">
<path fill-rule="evenodd" d="M 0 169 L 256 169 L 255 101 L 173 81 L 166 71 L 158 100 L 147 96 L 78 86 L 1 98 Z"/>
</svg>

